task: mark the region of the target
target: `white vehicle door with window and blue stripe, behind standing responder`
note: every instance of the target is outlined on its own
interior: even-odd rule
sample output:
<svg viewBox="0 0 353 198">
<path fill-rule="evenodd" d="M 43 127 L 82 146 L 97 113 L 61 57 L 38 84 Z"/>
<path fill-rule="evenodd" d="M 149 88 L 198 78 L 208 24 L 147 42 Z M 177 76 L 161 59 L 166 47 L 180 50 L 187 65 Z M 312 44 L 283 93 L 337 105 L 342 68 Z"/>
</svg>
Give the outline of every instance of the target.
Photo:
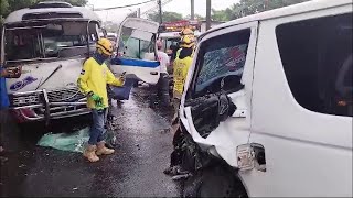
<svg viewBox="0 0 353 198">
<path fill-rule="evenodd" d="M 118 55 L 111 59 L 110 69 L 115 74 L 126 72 L 127 78 L 157 84 L 160 76 L 156 50 L 158 28 L 159 23 L 153 21 L 127 18 L 118 31 Z"/>
</svg>

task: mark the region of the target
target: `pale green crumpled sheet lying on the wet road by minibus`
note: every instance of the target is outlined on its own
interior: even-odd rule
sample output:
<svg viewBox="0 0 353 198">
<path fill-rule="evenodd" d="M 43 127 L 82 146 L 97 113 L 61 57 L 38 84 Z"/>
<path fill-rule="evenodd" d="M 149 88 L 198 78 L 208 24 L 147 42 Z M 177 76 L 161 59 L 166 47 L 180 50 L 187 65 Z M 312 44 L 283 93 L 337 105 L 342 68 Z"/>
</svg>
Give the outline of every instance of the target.
<svg viewBox="0 0 353 198">
<path fill-rule="evenodd" d="M 83 153 L 84 145 L 88 139 L 89 128 L 87 127 L 74 133 L 46 133 L 41 138 L 36 145 Z"/>
</svg>

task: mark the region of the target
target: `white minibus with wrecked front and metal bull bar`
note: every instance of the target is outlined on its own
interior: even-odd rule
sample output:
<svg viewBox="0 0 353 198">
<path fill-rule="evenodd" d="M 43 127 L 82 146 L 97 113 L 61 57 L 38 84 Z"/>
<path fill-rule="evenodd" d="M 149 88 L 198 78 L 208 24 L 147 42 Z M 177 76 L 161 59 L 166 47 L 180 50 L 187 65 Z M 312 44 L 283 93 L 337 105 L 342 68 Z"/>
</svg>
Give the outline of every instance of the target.
<svg viewBox="0 0 353 198">
<path fill-rule="evenodd" d="M 64 2 L 38 3 L 9 14 L 1 63 L 22 66 L 20 78 L 7 79 L 10 109 L 19 122 L 90 112 L 76 79 L 100 35 L 100 20 L 93 11 Z"/>
</svg>

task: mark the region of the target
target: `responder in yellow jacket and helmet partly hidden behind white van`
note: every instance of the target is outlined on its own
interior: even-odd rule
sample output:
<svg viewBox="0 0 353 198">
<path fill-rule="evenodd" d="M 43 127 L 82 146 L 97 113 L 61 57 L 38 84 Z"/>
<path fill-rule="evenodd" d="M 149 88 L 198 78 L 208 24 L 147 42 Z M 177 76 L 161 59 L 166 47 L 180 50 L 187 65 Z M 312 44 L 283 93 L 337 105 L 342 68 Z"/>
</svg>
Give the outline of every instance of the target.
<svg viewBox="0 0 353 198">
<path fill-rule="evenodd" d="M 173 132 L 178 127 L 178 111 L 180 106 L 181 96 L 184 90 L 184 84 L 188 76 L 188 70 L 192 64 L 192 56 L 194 52 L 195 38 L 190 29 L 185 29 L 181 32 L 181 48 L 176 52 L 175 61 L 173 64 L 173 105 L 174 105 L 174 118 L 172 120 Z M 178 128 L 176 128 L 178 129 Z"/>
</svg>

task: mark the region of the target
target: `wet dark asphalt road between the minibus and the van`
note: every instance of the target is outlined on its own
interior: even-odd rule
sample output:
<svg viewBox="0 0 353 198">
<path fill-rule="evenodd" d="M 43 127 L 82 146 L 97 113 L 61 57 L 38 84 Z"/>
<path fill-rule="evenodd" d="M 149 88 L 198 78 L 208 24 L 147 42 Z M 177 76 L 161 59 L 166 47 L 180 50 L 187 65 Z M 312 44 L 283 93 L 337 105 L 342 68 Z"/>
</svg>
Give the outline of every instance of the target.
<svg viewBox="0 0 353 198">
<path fill-rule="evenodd" d="M 1 165 L 0 196 L 180 196 L 179 185 L 162 173 L 172 151 L 172 112 L 149 108 L 146 89 L 135 89 L 121 107 L 114 102 L 116 154 L 94 164 L 79 153 L 35 146 L 47 131 L 79 129 L 85 119 L 56 122 L 52 129 L 25 125 L 22 132 L 7 124 L 9 160 Z"/>
</svg>

